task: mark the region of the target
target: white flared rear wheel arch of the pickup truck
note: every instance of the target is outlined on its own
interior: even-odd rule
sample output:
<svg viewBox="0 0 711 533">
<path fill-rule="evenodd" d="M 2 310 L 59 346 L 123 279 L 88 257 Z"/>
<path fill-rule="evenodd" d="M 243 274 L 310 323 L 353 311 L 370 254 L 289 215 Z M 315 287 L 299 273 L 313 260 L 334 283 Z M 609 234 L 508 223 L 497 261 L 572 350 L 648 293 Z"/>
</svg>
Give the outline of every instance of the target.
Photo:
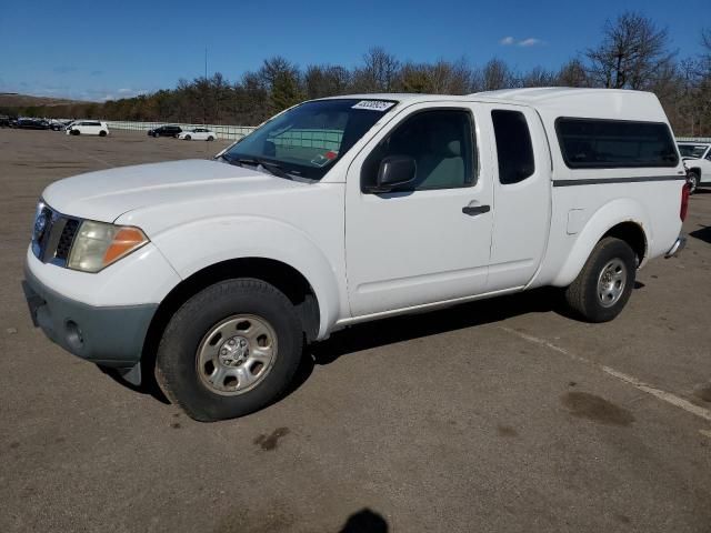
<svg viewBox="0 0 711 533">
<path fill-rule="evenodd" d="M 582 270 L 592 249 L 600 242 L 602 235 L 623 222 L 633 222 L 644 232 L 648 247 L 651 242 L 651 224 L 642 204 L 631 198 L 619 198 L 598 209 L 585 222 L 582 231 L 563 262 L 562 268 L 553 279 L 552 285 L 570 285 Z"/>
</svg>

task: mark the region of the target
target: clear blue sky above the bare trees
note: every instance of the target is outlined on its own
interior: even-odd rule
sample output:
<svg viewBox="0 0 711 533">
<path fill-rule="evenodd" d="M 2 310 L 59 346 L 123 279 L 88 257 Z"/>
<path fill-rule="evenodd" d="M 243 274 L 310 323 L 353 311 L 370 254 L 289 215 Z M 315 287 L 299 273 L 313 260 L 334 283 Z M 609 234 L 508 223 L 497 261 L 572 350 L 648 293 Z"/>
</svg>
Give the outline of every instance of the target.
<svg viewBox="0 0 711 533">
<path fill-rule="evenodd" d="M 1 0 L 0 92 L 83 100 L 173 88 L 209 73 L 230 80 L 270 56 L 352 67 L 382 46 L 401 60 L 493 57 L 554 69 L 600 40 L 605 19 L 637 10 L 669 28 L 680 57 L 700 51 L 708 0 L 293 0 L 104 2 Z"/>
</svg>

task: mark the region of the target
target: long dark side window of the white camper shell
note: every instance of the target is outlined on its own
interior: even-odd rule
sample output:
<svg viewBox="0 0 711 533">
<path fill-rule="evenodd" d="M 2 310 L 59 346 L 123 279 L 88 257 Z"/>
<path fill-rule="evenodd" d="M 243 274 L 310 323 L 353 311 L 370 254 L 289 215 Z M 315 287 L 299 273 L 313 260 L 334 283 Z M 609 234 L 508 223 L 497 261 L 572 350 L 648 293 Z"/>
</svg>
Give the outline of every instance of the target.
<svg viewBox="0 0 711 533">
<path fill-rule="evenodd" d="M 555 121 L 563 160 L 571 169 L 677 167 L 669 127 L 661 122 L 570 119 Z"/>
</svg>

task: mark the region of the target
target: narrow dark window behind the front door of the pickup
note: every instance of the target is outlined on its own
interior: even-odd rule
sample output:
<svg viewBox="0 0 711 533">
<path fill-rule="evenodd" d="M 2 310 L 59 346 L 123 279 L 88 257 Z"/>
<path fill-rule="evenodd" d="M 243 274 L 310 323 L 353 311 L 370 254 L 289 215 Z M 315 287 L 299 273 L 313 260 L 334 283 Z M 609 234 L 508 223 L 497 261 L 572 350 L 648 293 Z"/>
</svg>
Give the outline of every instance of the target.
<svg viewBox="0 0 711 533">
<path fill-rule="evenodd" d="M 499 181 L 507 185 L 525 180 L 535 172 L 533 145 L 525 117 L 520 111 L 491 111 L 499 155 Z"/>
</svg>

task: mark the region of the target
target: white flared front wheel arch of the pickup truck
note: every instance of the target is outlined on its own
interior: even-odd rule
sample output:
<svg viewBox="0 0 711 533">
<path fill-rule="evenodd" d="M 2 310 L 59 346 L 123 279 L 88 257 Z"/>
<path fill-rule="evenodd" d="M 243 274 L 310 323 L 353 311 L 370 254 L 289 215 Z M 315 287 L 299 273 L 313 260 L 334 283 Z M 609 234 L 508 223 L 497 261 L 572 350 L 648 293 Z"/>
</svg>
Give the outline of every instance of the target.
<svg viewBox="0 0 711 533">
<path fill-rule="evenodd" d="M 334 264 L 310 235 L 283 221 L 254 215 L 201 219 L 163 231 L 152 242 L 181 279 L 232 259 L 286 263 L 298 270 L 316 293 L 321 314 L 318 339 L 326 336 L 339 318 Z"/>
</svg>

